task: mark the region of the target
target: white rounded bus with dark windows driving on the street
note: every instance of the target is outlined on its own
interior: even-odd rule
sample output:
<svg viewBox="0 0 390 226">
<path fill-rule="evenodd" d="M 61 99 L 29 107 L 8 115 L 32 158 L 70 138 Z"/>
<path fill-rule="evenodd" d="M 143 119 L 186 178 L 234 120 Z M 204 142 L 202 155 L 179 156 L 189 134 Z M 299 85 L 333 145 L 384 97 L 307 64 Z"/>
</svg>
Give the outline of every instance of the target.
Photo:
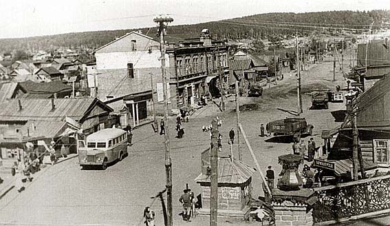
<svg viewBox="0 0 390 226">
<path fill-rule="evenodd" d="M 116 128 L 99 130 L 87 136 L 86 144 L 78 141 L 80 166 L 100 165 L 105 170 L 107 164 L 127 155 L 127 132 Z"/>
</svg>

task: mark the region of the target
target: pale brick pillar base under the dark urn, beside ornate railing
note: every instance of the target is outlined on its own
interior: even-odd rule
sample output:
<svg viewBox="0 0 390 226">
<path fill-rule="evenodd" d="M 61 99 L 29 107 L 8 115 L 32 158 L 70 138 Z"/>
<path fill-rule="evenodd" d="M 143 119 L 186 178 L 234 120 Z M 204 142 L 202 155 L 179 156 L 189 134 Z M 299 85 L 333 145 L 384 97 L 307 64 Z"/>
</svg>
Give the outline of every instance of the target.
<svg viewBox="0 0 390 226">
<path fill-rule="evenodd" d="M 301 225 L 312 226 L 312 209 L 305 204 L 284 201 L 283 203 L 272 203 L 275 211 L 275 225 Z"/>
</svg>

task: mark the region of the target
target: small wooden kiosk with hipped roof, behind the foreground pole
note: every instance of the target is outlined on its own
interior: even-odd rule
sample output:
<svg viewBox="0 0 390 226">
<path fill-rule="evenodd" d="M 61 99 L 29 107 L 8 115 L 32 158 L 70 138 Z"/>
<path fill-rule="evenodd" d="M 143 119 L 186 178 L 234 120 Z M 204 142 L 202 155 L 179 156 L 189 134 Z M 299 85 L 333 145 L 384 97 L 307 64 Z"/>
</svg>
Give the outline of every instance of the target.
<svg viewBox="0 0 390 226">
<path fill-rule="evenodd" d="M 202 187 L 202 208 L 199 214 L 210 214 L 210 157 L 202 152 L 202 174 L 195 178 Z M 254 168 L 235 158 L 218 158 L 218 216 L 243 217 L 252 196 Z"/>
</svg>

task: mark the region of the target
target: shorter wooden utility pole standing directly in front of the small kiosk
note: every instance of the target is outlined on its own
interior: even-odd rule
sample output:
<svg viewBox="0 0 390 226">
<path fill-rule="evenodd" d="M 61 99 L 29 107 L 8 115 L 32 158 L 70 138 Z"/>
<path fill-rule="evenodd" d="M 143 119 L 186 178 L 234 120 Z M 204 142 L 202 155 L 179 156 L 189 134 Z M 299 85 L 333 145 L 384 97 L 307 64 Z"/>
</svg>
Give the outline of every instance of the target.
<svg viewBox="0 0 390 226">
<path fill-rule="evenodd" d="M 211 122 L 210 149 L 210 226 L 217 226 L 218 215 L 218 122 Z"/>
</svg>

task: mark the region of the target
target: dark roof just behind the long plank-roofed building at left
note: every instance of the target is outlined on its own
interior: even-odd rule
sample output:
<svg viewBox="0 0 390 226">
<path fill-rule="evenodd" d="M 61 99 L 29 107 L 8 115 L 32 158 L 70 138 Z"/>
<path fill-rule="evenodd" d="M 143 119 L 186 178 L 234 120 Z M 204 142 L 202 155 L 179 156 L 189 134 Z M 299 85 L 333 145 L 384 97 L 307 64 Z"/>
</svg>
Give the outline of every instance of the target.
<svg viewBox="0 0 390 226">
<path fill-rule="evenodd" d="M 72 87 L 65 85 L 62 81 L 51 81 L 49 83 L 34 83 L 32 81 L 24 81 L 19 83 L 29 93 L 51 93 L 61 92 L 64 90 L 72 90 Z"/>
</svg>

